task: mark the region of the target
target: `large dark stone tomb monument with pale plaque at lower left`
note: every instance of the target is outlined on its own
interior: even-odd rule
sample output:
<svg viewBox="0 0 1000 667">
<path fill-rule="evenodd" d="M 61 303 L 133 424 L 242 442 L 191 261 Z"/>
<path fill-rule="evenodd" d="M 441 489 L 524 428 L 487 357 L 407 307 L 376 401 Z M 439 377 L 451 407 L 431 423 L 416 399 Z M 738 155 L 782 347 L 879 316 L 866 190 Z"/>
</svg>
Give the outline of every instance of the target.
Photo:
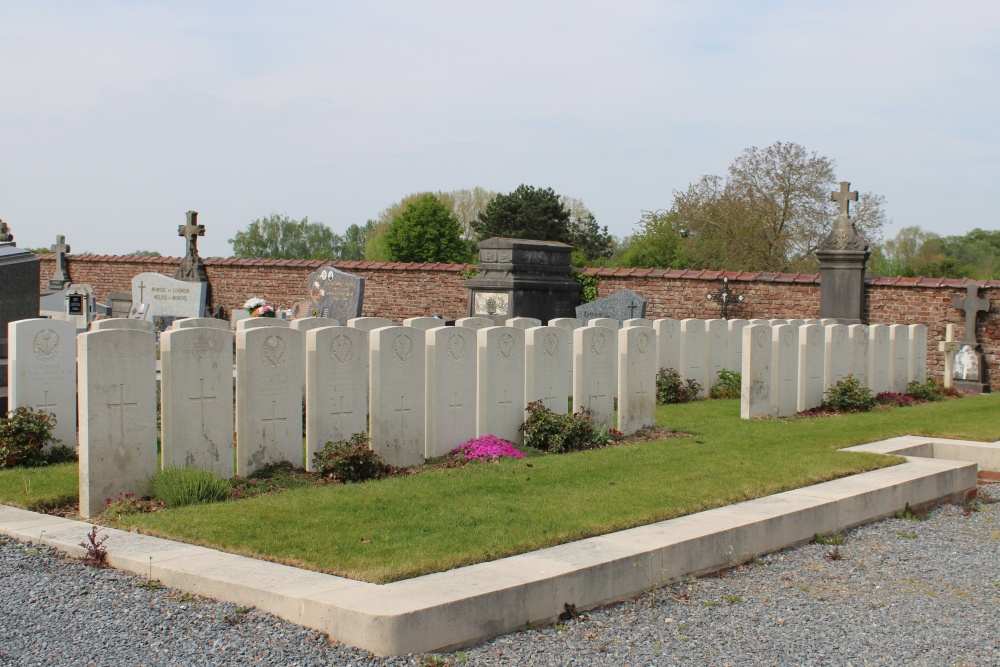
<svg viewBox="0 0 1000 667">
<path fill-rule="evenodd" d="M 467 314 L 488 317 L 498 326 L 513 317 L 534 317 L 542 323 L 572 317 L 580 303 L 572 253 L 572 246 L 557 241 L 480 241 L 479 274 L 465 281 Z"/>
</svg>

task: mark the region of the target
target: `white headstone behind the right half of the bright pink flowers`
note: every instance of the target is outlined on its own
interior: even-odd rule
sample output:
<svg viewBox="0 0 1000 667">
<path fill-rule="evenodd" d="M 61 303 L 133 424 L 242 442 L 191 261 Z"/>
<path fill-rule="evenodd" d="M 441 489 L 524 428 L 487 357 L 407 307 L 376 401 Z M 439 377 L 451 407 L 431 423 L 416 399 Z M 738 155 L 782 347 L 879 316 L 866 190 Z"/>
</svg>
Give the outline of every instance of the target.
<svg viewBox="0 0 1000 667">
<path fill-rule="evenodd" d="M 519 444 L 524 423 L 524 329 L 476 332 L 476 435 Z"/>
</svg>

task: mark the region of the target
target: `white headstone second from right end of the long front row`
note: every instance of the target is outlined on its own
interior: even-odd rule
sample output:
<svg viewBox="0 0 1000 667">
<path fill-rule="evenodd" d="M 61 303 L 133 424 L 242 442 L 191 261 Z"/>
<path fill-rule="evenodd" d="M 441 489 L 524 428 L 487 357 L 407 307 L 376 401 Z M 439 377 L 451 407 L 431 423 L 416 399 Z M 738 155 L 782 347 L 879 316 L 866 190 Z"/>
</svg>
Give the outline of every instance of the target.
<svg viewBox="0 0 1000 667">
<path fill-rule="evenodd" d="M 595 326 L 573 332 L 573 412 L 587 408 L 595 424 L 608 428 L 615 425 L 617 333 Z"/>
</svg>

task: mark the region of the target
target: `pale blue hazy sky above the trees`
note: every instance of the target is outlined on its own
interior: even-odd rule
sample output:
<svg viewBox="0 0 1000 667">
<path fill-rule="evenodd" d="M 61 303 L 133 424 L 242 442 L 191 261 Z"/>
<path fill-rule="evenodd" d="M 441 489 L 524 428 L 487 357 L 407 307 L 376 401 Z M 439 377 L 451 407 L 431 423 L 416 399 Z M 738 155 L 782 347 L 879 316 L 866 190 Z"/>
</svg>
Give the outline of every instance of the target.
<svg viewBox="0 0 1000 667">
<path fill-rule="evenodd" d="M 629 234 L 794 141 L 894 223 L 1000 227 L 1000 3 L 0 0 L 18 245 L 203 256 L 272 212 L 343 232 L 524 182 Z M 991 198 L 992 197 L 992 198 Z"/>
</svg>

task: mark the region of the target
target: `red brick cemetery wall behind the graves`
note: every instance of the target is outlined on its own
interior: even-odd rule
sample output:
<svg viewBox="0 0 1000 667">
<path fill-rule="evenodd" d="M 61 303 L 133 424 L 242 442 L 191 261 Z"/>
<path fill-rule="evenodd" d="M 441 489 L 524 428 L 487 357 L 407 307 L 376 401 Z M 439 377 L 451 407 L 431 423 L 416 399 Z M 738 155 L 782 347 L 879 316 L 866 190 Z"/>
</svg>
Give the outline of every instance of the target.
<svg viewBox="0 0 1000 667">
<path fill-rule="evenodd" d="M 42 255 L 41 280 L 44 287 L 55 269 L 55 256 Z M 80 255 L 67 258 L 70 278 L 90 283 L 97 298 L 109 292 L 128 292 L 132 277 L 146 271 L 173 276 L 181 260 L 176 257 L 133 257 Z M 466 290 L 460 264 L 401 264 L 383 262 L 324 262 L 313 260 L 205 260 L 212 285 L 211 303 L 226 310 L 239 308 L 251 296 L 287 308 L 306 300 L 306 279 L 321 266 L 332 264 L 342 271 L 365 277 L 364 315 L 387 317 L 399 322 L 418 315 L 445 318 L 466 315 Z M 816 274 L 722 273 L 719 271 L 679 271 L 658 269 L 587 269 L 601 281 L 598 294 L 605 296 L 631 289 L 649 301 L 646 316 L 719 316 L 717 302 L 705 295 L 714 292 L 729 278 L 734 290 L 746 296 L 746 303 L 730 317 L 817 318 L 819 317 L 819 276 Z M 875 278 L 868 280 L 865 314 L 872 324 L 927 325 L 928 369 L 940 377 L 944 359 L 938 341 L 944 340 L 945 324 L 954 323 L 956 338 L 964 333 L 964 314 L 952 306 L 952 299 L 965 295 L 966 280 L 928 278 Z M 1000 390 L 1000 281 L 984 283 L 982 296 L 993 307 L 985 322 L 980 316 L 979 340 L 984 342 L 987 364 L 994 373 L 995 390 Z"/>
</svg>

